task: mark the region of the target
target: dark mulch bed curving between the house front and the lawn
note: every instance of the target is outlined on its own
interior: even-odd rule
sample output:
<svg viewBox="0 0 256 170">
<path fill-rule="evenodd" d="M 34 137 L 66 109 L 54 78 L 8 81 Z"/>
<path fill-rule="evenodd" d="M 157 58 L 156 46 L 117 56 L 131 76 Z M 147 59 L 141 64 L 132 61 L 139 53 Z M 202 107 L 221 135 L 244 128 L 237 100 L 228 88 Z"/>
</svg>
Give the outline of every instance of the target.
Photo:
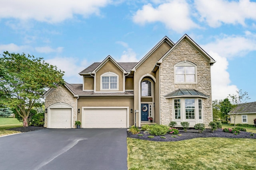
<svg viewBox="0 0 256 170">
<path fill-rule="evenodd" d="M 138 134 L 131 134 L 129 131 L 127 131 L 127 137 L 128 138 L 136 138 L 136 139 L 142 139 L 142 140 L 152 140 L 152 141 L 160 141 L 160 142 L 170 142 L 170 141 L 180 141 L 180 140 L 188 140 L 192 138 L 209 138 L 209 137 L 219 137 L 219 138 L 252 138 L 256 139 L 256 134 L 250 133 L 250 132 L 240 132 L 240 134 L 235 135 L 228 132 L 223 132 L 222 129 L 218 129 L 217 131 L 212 132 L 210 129 L 204 130 L 201 134 L 198 132 L 198 130 L 195 129 L 188 129 L 187 132 L 184 132 L 184 130 L 179 130 L 178 135 L 172 135 L 172 134 L 166 134 L 164 137 L 166 139 L 160 138 L 161 136 L 154 136 L 154 138 L 148 138 L 150 134 L 143 134 L 144 131 L 141 131 L 140 134 L 143 134 L 143 136 L 138 136 Z M 253 134 L 254 136 L 251 136 L 250 134 Z M 176 137 L 173 137 L 176 136 Z"/>
</svg>

